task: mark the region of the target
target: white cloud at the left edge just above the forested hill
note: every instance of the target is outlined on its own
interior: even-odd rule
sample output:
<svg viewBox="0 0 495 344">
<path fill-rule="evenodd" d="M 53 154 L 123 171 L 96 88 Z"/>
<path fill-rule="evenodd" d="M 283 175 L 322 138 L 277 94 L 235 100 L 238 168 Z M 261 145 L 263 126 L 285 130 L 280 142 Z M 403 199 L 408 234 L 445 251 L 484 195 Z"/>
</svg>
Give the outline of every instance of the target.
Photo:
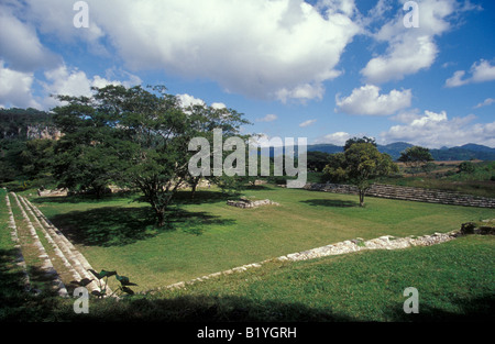
<svg viewBox="0 0 495 344">
<path fill-rule="evenodd" d="M 12 70 L 0 59 L 0 104 L 3 108 L 40 109 L 31 90 L 33 80 L 33 73 Z"/>
</svg>

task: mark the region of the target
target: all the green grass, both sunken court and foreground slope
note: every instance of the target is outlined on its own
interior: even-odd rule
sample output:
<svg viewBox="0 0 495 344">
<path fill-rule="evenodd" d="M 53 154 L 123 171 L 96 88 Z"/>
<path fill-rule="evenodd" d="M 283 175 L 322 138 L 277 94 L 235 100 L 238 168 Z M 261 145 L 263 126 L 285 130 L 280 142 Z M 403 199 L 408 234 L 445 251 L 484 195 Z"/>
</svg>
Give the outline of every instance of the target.
<svg viewBox="0 0 495 344">
<path fill-rule="evenodd" d="M 6 192 L 0 190 L 4 199 Z M 29 196 L 29 191 L 25 192 Z M 227 196 L 179 193 L 164 229 L 138 196 L 36 198 L 38 208 L 97 269 L 117 269 L 139 291 L 343 240 L 431 234 L 495 210 L 258 187 L 246 197 L 280 206 L 243 210 Z M 14 212 L 18 211 L 14 207 Z M 213 278 L 116 302 L 74 301 L 20 292 L 20 269 L 6 207 L 0 208 L 1 320 L 14 321 L 465 321 L 494 320 L 495 238 L 472 235 L 400 251 L 365 251 Z M 22 230 L 21 230 L 22 231 Z M 405 288 L 419 292 L 419 314 L 406 314 Z"/>
</svg>

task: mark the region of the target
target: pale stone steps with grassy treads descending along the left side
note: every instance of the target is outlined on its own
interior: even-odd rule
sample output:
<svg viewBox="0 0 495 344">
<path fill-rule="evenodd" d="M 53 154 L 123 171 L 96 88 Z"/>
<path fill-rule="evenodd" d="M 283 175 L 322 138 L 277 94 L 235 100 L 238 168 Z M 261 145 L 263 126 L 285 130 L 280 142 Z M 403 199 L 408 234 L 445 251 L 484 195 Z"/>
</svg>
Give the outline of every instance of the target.
<svg viewBox="0 0 495 344">
<path fill-rule="evenodd" d="M 51 288 L 59 296 L 68 297 L 67 286 L 72 281 L 81 281 L 82 279 L 91 280 L 85 285 L 89 292 L 100 291 L 97 278 L 89 271 L 94 269 L 89 262 L 34 204 L 14 192 L 6 196 L 6 204 L 10 214 L 9 228 L 19 252 L 18 262 L 23 268 L 28 290 L 31 289 L 31 282 L 23 257 L 25 249 L 31 249 L 31 254 L 33 251 L 37 251 L 37 260 L 41 264 L 36 267 L 43 271 L 51 281 Z M 16 219 L 12 211 L 13 207 L 16 207 L 18 210 Z M 30 248 L 26 246 L 28 237 L 23 240 L 19 235 L 20 230 L 30 234 L 29 241 L 32 243 Z M 107 295 L 111 295 L 109 288 L 107 288 Z"/>
</svg>

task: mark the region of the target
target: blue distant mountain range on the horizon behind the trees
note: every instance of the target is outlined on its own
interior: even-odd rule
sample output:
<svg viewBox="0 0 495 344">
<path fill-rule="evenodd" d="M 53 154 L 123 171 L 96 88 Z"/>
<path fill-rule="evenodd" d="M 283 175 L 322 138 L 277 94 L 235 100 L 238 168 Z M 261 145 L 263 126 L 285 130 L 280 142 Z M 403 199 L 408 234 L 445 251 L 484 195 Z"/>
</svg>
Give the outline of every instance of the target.
<svg viewBox="0 0 495 344">
<path fill-rule="evenodd" d="M 382 153 L 389 154 L 392 158 L 396 160 L 399 158 L 402 152 L 411 146 L 414 145 L 406 142 L 396 142 L 387 145 L 378 145 L 377 148 Z M 343 152 L 343 147 L 333 144 L 316 144 L 309 145 L 308 152 L 323 152 L 334 154 Z M 470 159 L 495 160 L 495 148 L 473 143 L 465 144 L 459 147 L 442 147 L 440 149 L 430 149 L 430 153 L 436 160 L 440 162 Z"/>
</svg>

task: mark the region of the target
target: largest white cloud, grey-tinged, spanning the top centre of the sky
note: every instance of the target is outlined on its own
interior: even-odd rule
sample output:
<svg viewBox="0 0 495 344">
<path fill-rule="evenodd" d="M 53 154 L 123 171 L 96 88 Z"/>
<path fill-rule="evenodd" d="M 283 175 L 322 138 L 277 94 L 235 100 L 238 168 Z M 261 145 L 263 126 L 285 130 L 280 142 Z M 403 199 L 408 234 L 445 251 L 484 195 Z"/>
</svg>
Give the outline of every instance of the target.
<svg viewBox="0 0 495 344">
<path fill-rule="evenodd" d="M 320 99 L 322 82 L 340 75 L 341 54 L 361 32 L 349 0 L 322 2 L 324 11 L 302 0 L 88 0 L 86 31 L 72 26 L 66 0 L 26 2 L 43 33 L 90 44 L 105 38 L 134 73 L 207 78 L 229 92 L 280 101 Z"/>
</svg>

